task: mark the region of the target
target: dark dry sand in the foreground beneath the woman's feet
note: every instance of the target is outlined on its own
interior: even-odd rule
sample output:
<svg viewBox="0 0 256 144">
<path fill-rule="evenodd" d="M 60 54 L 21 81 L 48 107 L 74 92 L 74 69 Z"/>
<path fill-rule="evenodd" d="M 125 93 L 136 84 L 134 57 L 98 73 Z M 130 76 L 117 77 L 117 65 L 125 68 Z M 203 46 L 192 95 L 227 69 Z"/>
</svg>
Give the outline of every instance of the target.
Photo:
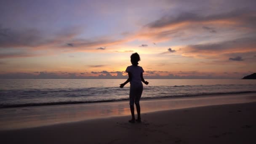
<svg viewBox="0 0 256 144">
<path fill-rule="evenodd" d="M 144 112 L 141 123 L 128 123 L 131 116 L 125 115 L 2 130 L 0 139 L 5 144 L 254 144 L 255 114 L 256 102 L 190 107 Z"/>
</svg>

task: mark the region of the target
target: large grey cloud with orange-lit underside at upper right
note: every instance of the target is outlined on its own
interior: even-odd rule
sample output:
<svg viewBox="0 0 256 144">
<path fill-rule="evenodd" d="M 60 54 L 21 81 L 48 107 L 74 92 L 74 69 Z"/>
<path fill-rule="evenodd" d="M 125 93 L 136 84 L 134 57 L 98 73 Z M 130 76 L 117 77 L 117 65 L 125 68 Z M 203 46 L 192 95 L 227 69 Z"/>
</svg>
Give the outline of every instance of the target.
<svg viewBox="0 0 256 144">
<path fill-rule="evenodd" d="M 189 3 L 189 2 L 188 2 Z M 197 7 L 198 8 L 198 7 Z M 200 13 L 197 13 L 200 11 Z M 207 11 L 207 10 L 205 10 Z M 207 11 L 208 12 L 208 11 Z M 207 35 L 202 28 L 219 35 L 242 33 L 242 29 L 256 29 L 255 11 L 249 9 L 226 9 L 225 11 L 211 11 L 202 13 L 202 10 L 177 11 L 165 13 L 160 19 L 149 22 L 136 34 L 137 39 L 154 40 L 155 42 L 176 40 L 204 40 Z M 246 32 L 244 31 L 243 32 Z M 225 33 L 225 34 L 224 34 Z M 234 34 L 233 34 L 234 36 Z M 195 41 L 194 41 L 195 43 Z"/>
</svg>

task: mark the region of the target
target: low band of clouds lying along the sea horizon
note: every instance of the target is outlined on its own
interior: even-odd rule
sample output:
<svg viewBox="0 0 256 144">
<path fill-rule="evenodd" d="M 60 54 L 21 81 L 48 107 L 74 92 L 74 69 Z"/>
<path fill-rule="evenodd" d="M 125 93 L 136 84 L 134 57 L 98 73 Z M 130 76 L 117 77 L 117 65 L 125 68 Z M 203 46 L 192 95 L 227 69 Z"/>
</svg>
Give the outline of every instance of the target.
<svg viewBox="0 0 256 144">
<path fill-rule="evenodd" d="M 227 79 L 227 78 L 241 78 L 246 73 L 229 73 L 226 72 L 213 73 L 213 72 L 197 72 L 197 71 L 145 71 L 145 79 Z M 86 74 L 86 75 L 85 75 Z M 0 73 L 0 79 L 127 79 L 128 75 L 120 71 L 101 71 L 91 72 L 10 72 Z M 163 75 L 162 75 L 163 74 Z"/>
</svg>

